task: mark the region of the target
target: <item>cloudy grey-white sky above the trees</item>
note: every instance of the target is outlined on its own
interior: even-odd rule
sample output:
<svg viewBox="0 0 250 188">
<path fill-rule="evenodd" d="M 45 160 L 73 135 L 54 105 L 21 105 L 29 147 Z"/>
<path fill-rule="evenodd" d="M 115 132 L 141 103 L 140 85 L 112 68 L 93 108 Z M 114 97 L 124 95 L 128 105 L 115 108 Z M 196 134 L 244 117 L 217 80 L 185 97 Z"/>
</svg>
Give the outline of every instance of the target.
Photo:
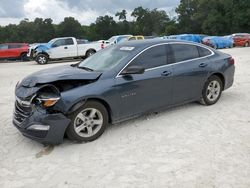
<svg viewBox="0 0 250 188">
<path fill-rule="evenodd" d="M 28 18 L 52 18 L 60 23 L 64 17 L 74 17 L 82 25 L 95 22 L 98 16 L 114 16 L 117 11 L 127 10 L 128 20 L 134 8 L 158 8 L 174 16 L 180 0 L 0 0 L 0 25 L 17 24 Z"/>
</svg>

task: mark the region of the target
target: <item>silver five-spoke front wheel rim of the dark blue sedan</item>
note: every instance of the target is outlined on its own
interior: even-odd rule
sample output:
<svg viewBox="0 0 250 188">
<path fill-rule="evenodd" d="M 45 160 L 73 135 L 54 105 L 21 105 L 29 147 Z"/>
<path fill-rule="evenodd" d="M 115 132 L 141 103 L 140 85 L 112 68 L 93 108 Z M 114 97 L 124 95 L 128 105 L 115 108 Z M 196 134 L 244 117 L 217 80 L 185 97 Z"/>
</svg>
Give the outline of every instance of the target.
<svg viewBox="0 0 250 188">
<path fill-rule="evenodd" d="M 74 120 L 74 130 L 80 137 L 94 136 L 103 125 L 103 115 L 95 108 L 86 108 L 77 114 Z"/>
</svg>

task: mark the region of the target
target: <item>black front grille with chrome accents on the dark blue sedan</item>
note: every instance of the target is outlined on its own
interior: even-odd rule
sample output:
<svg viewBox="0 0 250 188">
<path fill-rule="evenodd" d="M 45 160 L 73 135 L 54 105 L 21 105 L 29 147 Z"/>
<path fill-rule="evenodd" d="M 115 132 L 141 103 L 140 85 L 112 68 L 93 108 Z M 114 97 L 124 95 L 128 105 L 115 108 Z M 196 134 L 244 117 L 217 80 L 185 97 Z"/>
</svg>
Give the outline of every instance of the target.
<svg viewBox="0 0 250 188">
<path fill-rule="evenodd" d="M 17 125 L 20 125 L 24 122 L 24 120 L 31 115 L 31 107 L 23 106 L 18 101 L 15 102 L 15 110 L 14 110 L 14 122 Z"/>
</svg>

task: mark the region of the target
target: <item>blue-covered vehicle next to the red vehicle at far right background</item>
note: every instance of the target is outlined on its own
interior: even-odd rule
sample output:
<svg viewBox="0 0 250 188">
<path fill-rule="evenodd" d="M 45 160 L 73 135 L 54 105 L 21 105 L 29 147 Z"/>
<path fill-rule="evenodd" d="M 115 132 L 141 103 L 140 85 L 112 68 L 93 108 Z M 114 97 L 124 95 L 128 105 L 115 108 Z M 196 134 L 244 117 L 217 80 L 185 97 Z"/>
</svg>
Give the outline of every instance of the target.
<svg viewBox="0 0 250 188">
<path fill-rule="evenodd" d="M 234 46 L 234 41 L 230 36 L 209 36 L 203 38 L 202 43 L 215 49 L 232 48 Z"/>
</svg>

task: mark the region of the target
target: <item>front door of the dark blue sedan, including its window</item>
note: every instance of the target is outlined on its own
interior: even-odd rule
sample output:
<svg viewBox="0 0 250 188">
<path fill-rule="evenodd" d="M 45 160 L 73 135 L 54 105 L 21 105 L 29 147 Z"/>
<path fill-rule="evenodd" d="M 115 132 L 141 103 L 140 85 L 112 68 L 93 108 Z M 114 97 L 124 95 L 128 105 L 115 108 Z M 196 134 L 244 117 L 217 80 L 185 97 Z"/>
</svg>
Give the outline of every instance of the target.
<svg viewBox="0 0 250 188">
<path fill-rule="evenodd" d="M 172 65 L 167 65 L 166 53 L 165 44 L 151 47 L 127 66 L 143 66 L 143 74 L 116 78 L 121 118 L 172 104 Z"/>
</svg>

